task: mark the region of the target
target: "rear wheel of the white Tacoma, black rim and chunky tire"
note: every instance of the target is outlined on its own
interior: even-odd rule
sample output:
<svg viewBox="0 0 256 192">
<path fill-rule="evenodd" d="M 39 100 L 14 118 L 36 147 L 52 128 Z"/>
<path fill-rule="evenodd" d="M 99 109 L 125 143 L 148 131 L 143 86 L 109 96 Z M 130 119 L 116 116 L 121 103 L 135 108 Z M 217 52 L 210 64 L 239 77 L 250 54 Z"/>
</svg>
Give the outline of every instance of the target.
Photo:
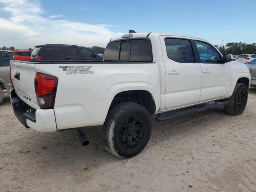
<svg viewBox="0 0 256 192">
<path fill-rule="evenodd" d="M 128 125 L 131 126 L 132 124 L 134 124 L 130 123 L 130 121 L 134 122 L 135 116 L 138 116 L 137 119 L 140 120 L 135 126 L 137 128 L 134 128 L 132 130 L 133 134 L 130 134 L 130 128 L 128 128 L 127 132 L 126 127 L 128 127 Z M 137 137 L 137 132 L 142 135 L 142 133 L 140 132 L 142 130 L 138 130 L 138 125 L 141 125 L 141 122 L 143 122 L 144 124 L 143 137 Z M 108 150 L 114 156 L 118 158 L 130 158 L 140 153 L 144 149 L 144 147 L 148 143 L 148 140 L 150 139 L 151 129 L 152 123 L 150 120 L 150 114 L 148 110 L 144 108 L 144 106 L 136 104 L 134 102 L 123 102 L 115 105 L 112 109 L 109 110 L 103 125 L 102 144 L 104 148 L 106 148 L 106 150 Z M 135 132 L 135 130 L 137 132 Z M 128 134 L 126 136 L 126 133 L 128 133 L 129 136 Z M 135 134 L 137 135 L 134 137 Z M 123 139 L 125 137 L 127 137 L 126 140 Z M 140 141 L 137 140 L 138 138 L 140 138 Z M 130 146 L 132 145 L 130 142 L 131 140 L 133 141 L 132 144 L 135 143 L 134 146 Z"/>
</svg>

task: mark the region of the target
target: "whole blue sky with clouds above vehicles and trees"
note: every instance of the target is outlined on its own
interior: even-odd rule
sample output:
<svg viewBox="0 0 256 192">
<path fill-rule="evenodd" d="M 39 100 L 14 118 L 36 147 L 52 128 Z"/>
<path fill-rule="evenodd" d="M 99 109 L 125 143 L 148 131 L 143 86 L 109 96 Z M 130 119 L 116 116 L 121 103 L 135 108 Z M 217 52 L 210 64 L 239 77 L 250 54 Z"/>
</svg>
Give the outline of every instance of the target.
<svg viewBox="0 0 256 192">
<path fill-rule="evenodd" d="M 213 44 L 252 43 L 255 10 L 256 0 L 0 0 L 0 29 L 8 22 L 16 25 L 16 31 L 10 26 L 1 30 L 6 38 L 0 46 L 49 42 L 105 46 L 109 38 L 129 29 L 188 34 Z"/>
</svg>

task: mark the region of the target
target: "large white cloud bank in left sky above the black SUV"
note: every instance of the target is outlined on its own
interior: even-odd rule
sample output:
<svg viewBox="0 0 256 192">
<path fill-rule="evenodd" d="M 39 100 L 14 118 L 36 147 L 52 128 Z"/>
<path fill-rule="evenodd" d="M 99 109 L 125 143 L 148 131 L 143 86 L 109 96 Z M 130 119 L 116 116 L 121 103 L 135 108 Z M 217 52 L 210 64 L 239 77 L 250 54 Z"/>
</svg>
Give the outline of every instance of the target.
<svg viewBox="0 0 256 192">
<path fill-rule="evenodd" d="M 110 38 L 123 34 L 113 31 L 116 25 L 60 20 L 62 15 L 44 17 L 40 0 L 0 0 L 0 4 L 0 12 L 5 12 L 0 15 L 0 47 L 47 43 L 106 46 Z"/>
</svg>

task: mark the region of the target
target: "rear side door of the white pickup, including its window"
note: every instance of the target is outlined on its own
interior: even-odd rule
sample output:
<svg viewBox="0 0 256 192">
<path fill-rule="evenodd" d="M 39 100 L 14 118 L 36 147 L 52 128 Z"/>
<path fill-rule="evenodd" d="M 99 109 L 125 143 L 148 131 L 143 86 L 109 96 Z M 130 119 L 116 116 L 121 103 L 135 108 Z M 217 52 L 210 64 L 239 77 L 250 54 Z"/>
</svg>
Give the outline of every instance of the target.
<svg viewBox="0 0 256 192">
<path fill-rule="evenodd" d="M 190 39 L 160 36 L 166 72 L 166 110 L 196 104 L 202 72 L 195 62 Z"/>
</svg>

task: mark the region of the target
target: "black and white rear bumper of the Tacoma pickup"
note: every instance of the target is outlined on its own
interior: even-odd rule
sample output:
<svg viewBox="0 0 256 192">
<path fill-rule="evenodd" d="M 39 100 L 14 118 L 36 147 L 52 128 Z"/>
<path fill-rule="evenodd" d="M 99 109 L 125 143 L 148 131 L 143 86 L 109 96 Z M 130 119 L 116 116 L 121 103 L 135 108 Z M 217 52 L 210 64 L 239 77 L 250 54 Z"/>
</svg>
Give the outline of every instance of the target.
<svg viewBox="0 0 256 192">
<path fill-rule="evenodd" d="M 10 100 L 14 114 L 26 128 L 32 128 L 38 132 L 57 131 L 54 109 L 35 110 L 23 102 L 14 89 L 10 91 Z"/>
</svg>

